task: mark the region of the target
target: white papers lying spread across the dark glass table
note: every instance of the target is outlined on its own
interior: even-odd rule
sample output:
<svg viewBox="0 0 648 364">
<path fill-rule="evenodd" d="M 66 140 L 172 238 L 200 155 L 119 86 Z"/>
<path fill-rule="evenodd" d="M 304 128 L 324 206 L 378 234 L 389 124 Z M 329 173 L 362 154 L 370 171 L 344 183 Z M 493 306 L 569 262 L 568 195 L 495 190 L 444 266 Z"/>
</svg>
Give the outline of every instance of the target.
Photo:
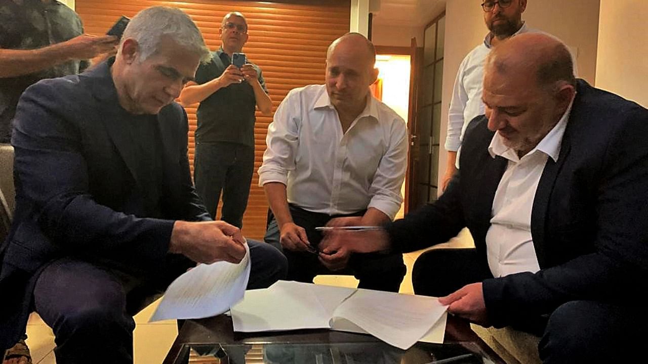
<svg viewBox="0 0 648 364">
<path fill-rule="evenodd" d="M 446 309 L 434 297 L 280 280 L 246 291 L 231 315 L 237 332 L 329 328 L 406 349 L 417 341 L 443 343 Z"/>
</svg>

